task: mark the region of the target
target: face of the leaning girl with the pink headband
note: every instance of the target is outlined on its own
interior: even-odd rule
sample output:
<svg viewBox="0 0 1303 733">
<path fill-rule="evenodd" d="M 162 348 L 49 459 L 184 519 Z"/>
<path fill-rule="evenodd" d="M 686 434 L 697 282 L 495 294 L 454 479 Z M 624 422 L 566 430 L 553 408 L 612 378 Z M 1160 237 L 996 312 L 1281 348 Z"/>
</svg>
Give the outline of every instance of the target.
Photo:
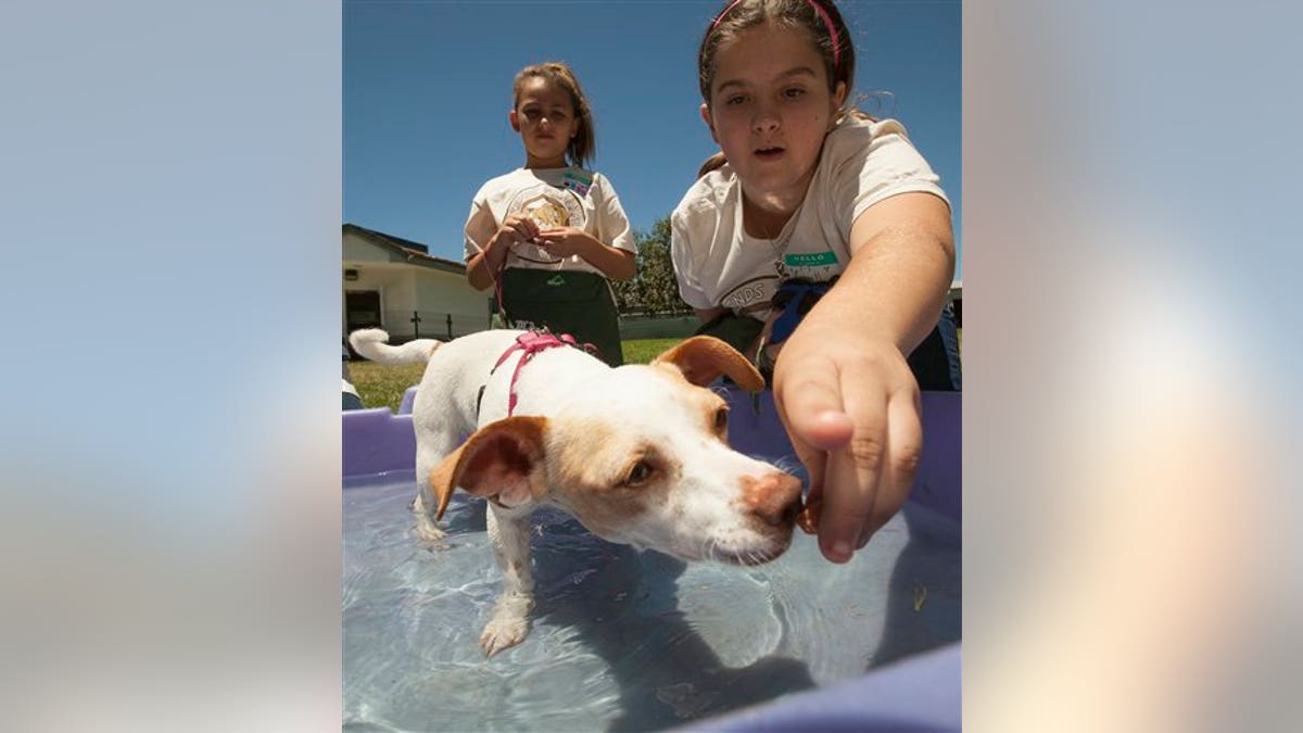
<svg viewBox="0 0 1303 733">
<path fill-rule="evenodd" d="M 805 33 L 765 23 L 721 46 L 701 115 L 751 198 L 799 202 L 844 97 Z"/>
</svg>

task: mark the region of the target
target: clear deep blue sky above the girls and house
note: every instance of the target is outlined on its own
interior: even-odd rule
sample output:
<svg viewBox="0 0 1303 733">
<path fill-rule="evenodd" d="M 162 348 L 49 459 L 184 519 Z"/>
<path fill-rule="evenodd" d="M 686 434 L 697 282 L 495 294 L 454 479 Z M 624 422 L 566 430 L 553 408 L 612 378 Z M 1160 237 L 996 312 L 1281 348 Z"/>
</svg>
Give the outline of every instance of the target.
<svg viewBox="0 0 1303 733">
<path fill-rule="evenodd" d="M 507 123 L 532 63 L 575 68 L 597 159 L 636 230 L 670 214 L 714 150 L 697 108 L 696 55 L 721 3 L 344 3 L 344 220 L 461 260 L 470 198 L 524 163 Z M 842 1 L 863 108 L 906 124 L 941 176 L 959 232 L 960 3 Z M 956 271 L 956 277 L 959 273 Z"/>
</svg>

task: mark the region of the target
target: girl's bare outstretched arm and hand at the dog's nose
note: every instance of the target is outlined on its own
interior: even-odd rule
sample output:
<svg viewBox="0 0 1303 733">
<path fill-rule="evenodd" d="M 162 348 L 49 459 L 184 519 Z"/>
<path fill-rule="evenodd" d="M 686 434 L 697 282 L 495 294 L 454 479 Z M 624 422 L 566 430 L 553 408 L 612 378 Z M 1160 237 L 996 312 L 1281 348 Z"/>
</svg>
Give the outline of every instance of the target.
<svg viewBox="0 0 1303 733">
<path fill-rule="evenodd" d="M 874 203 L 851 262 L 774 366 L 774 399 L 822 502 L 820 548 L 846 562 L 904 503 L 923 446 L 907 355 L 937 323 L 954 277 L 950 209 L 929 193 Z"/>
</svg>

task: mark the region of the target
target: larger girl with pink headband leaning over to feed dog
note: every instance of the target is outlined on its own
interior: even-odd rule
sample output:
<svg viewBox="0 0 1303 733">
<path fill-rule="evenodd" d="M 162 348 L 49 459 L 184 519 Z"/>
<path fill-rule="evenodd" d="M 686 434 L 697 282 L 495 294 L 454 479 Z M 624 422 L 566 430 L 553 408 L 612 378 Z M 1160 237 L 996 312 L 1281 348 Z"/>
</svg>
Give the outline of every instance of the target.
<svg viewBox="0 0 1303 733">
<path fill-rule="evenodd" d="M 831 0 L 731 1 L 697 61 L 721 154 L 671 217 L 679 291 L 706 333 L 773 366 L 820 546 L 846 562 L 908 496 L 920 383 L 958 389 L 936 333 L 949 202 L 899 123 L 847 104 L 855 48 Z"/>
</svg>

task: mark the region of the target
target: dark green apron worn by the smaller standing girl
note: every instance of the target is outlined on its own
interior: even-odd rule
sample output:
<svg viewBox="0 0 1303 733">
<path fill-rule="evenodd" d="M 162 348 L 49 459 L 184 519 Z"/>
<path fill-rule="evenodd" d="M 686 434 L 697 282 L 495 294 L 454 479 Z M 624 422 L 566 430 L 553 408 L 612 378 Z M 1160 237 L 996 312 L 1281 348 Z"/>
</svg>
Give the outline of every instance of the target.
<svg viewBox="0 0 1303 733">
<path fill-rule="evenodd" d="M 624 364 L 620 316 L 602 275 L 507 267 L 502 274 L 502 305 L 512 327 L 569 334 L 595 346 L 598 357 L 611 366 Z"/>
</svg>

